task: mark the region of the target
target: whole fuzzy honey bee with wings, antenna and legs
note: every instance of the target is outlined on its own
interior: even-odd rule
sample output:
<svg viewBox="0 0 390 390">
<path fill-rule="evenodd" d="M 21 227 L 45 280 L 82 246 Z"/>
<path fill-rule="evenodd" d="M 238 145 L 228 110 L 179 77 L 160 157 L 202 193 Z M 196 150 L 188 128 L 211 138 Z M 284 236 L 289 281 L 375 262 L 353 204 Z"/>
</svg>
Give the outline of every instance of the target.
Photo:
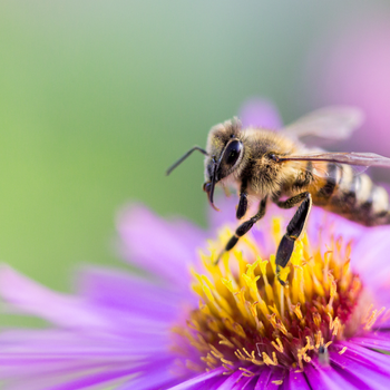
<svg viewBox="0 0 390 390">
<path fill-rule="evenodd" d="M 280 279 L 281 267 L 289 263 L 294 243 L 304 232 L 312 204 L 365 226 L 390 224 L 389 194 L 367 174 L 354 169 L 390 167 L 390 158 L 372 153 L 330 153 L 302 142 L 308 136 L 345 139 L 362 120 L 362 113 L 353 107 L 322 108 L 279 131 L 242 128 L 240 120 L 233 118 L 209 130 L 206 149 L 193 147 L 167 174 L 198 150 L 205 155 L 203 189 L 212 207 L 217 209 L 216 186 L 236 188 L 237 220 L 246 215 L 248 197 L 259 202 L 256 214 L 236 228 L 217 261 L 264 216 L 270 202 L 281 208 L 298 207 L 276 251 L 276 276 L 285 285 Z"/>
</svg>

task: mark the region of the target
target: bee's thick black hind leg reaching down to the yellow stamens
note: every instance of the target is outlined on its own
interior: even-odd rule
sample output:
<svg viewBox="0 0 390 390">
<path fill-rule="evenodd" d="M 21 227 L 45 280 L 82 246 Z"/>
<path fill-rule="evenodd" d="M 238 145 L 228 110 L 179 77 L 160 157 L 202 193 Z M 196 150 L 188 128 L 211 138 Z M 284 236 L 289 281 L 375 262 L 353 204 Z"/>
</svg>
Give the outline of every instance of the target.
<svg viewBox="0 0 390 390">
<path fill-rule="evenodd" d="M 287 265 L 290 257 L 294 251 L 295 241 L 300 237 L 304 230 L 312 205 L 312 198 L 309 193 L 302 193 L 300 195 L 291 197 L 285 202 L 281 202 L 284 205 L 294 205 L 301 202 L 302 199 L 303 202 L 298 208 L 292 220 L 290 221 L 286 228 L 286 233 L 284 234 L 281 243 L 279 244 L 276 252 L 276 277 L 282 285 L 285 285 L 285 282 L 280 279 L 281 267 L 285 267 Z"/>
</svg>

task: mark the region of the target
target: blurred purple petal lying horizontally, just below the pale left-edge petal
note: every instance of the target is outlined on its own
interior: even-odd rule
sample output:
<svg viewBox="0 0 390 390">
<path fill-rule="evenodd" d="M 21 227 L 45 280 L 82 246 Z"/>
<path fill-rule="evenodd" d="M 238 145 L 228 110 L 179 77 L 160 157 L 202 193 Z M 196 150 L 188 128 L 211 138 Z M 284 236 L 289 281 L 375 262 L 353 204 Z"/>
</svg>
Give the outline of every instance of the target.
<svg viewBox="0 0 390 390">
<path fill-rule="evenodd" d="M 0 343 L 0 372 L 7 376 L 11 371 L 25 372 L 32 365 L 46 370 L 51 364 L 130 363 L 139 361 L 139 357 L 169 354 L 170 347 L 166 335 L 159 339 L 153 334 L 118 338 L 60 330 L 3 331 Z"/>
</svg>

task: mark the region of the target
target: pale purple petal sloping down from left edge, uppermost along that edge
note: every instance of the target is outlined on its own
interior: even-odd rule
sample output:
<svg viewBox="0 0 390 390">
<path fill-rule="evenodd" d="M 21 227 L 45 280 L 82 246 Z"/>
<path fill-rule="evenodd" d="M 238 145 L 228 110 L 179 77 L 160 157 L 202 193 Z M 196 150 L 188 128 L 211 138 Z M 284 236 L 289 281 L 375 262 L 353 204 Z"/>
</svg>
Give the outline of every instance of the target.
<svg viewBox="0 0 390 390">
<path fill-rule="evenodd" d="M 38 315 L 59 326 L 87 332 L 97 338 L 126 337 L 135 348 L 162 348 L 170 321 L 163 321 L 154 312 L 147 316 L 137 312 L 91 305 L 80 298 L 55 293 L 18 274 L 10 267 L 0 271 L 0 292 L 6 301 L 22 313 Z M 179 308 L 178 308 L 179 309 Z M 139 341 L 143 340 L 143 344 Z"/>
</svg>

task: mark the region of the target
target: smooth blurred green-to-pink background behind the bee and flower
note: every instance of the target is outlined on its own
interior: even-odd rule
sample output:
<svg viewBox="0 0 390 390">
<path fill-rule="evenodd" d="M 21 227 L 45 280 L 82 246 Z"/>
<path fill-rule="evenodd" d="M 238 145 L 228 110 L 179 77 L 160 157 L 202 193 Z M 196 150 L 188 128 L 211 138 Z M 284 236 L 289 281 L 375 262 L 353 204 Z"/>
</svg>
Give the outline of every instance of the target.
<svg viewBox="0 0 390 390">
<path fill-rule="evenodd" d="M 358 105 L 335 148 L 390 157 L 389 26 L 388 0 L 2 0 L 0 260 L 67 291 L 76 264 L 120 266 L 128 202 L 205 225 L 202 156 L 165 168 L 254 96 L 284 121 Z"/>
</svg>

